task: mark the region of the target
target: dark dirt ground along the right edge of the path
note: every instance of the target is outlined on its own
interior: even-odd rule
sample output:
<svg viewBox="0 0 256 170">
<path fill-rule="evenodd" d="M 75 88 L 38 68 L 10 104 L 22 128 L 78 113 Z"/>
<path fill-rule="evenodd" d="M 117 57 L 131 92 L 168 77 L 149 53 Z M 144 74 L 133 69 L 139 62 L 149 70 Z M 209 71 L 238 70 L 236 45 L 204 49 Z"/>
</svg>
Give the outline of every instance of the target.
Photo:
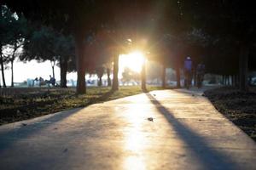
<svg viewBox="0 0 256 170">
<path fill-rule="evenodd" d="M 256 88 L 247 93 L 238 88 L 215 88 L 205 95 L 219 112 L 256 141 Z"/>
</svg>

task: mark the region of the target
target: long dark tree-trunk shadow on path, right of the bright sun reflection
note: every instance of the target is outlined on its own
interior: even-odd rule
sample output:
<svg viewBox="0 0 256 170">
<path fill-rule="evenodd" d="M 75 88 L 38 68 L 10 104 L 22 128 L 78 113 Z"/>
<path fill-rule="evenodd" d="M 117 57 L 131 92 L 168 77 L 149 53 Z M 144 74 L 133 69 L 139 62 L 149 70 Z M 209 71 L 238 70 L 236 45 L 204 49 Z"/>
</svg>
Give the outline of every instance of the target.
<svg viewBox="0 0 256 170">
<path fill-rule="evenodd" d="M 230 157 L 212 148 L 207 144 L 206 139 L 193 132 L 182 122 L 179 122 L 154 96 L 148 93 L 146 95 L 152 104 L 156 106 L 160 114 L 166 117 L 170 126 L 177 132 L 178 137 L 188 145 L 188 149 L 195 154 L 205 169 L 237 169 L 236 163 Z"/>
</svg>

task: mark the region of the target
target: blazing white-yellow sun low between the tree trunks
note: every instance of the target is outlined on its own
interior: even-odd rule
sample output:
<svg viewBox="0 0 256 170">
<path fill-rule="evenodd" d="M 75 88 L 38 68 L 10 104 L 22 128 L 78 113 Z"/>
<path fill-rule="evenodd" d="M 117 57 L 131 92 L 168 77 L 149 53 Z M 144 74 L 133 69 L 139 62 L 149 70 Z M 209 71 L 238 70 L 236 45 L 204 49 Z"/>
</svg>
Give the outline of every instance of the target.
<svg viewBox="0 0 256 170">
<path fill-rule="evenodd" d="M 141 72 L 144 62 L 145 57 L 140 51 L 134 51 L 130 54 L 121 54 L 119 56 L 119 68 L 121 71 L 124 71 L 125 67 L 128 67 L 131 71 Z"/>
</svg>

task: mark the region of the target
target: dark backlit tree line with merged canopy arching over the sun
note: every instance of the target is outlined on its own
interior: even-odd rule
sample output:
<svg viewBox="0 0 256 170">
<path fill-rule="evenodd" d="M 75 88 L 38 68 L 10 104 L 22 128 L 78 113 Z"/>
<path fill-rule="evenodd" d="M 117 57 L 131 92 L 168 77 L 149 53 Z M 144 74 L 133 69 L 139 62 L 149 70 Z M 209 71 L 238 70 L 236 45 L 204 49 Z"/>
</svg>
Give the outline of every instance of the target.
<svg viewBox="0 0 256 170">
<path fill-rule="evenodd" d="M 78 71 L 78 94 L 84 94 L 86 90 L 85 71 L 97 68 L 101 77 L 102 65 L 112 61 L 112 86 L 113 90 L 117 90 L 118 56 L 127 53 L 130 48 L 149 52 L 149 59 L 163 65 L 163 87 L 166 67 L 176 70 L 177 86 L 180 86 L 180 69 L 183 59 L 188 55 L 195 65 L 203 61 L 207 65 L 207 72 L 239 75 L 237 82 L 241 90 L 247 90 L 248 68 L 255 69 L 251 61 L 255 60 L 256 19 L 255 6 L 251 2 L 8 0 L 3 1 L 3 4 L 38 26 L 48 26 L 64 37 L 72 35 Z M 127 39 L 132 40 L 130 44 Z M 49 56 L 59 57 L 61 61 L 60 56 L 63 55 Z M 107 70 L 109 73 L 110 68 Z M 143 69 L 143 88 L 144 72 Z"/>
</svg>

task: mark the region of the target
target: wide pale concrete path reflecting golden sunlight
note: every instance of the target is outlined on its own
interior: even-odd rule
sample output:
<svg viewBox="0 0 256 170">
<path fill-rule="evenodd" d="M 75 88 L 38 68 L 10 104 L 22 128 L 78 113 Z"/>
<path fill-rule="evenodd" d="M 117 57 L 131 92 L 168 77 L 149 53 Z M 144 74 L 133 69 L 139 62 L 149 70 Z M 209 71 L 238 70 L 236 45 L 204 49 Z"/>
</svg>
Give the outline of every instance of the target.
<svg viewBox="0 0 256 170">
<path fill-rule="evenodd" d="M 201 92 L 164 90 L 2 126 L 0 169 L 256 169 L 256 144 Z"/>
</svg>

